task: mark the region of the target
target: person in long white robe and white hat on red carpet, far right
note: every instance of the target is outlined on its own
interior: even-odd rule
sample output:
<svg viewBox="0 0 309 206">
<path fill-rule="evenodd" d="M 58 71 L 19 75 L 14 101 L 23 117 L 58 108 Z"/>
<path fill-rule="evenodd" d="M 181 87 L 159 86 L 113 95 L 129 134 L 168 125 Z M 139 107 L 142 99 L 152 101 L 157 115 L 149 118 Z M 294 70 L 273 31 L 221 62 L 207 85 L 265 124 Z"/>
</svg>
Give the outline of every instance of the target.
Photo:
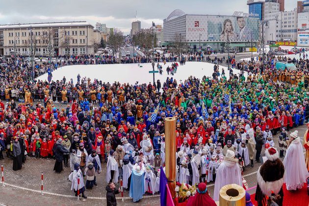
<svg viewBox="0 0 309 206">
<path fill-rule="evenodd" d="M 295 191 L 301 189 L 309 177 L 303 149 L 300 137 L 298 137 L 298 131 L 295 130 L 290 134 L 290 145 L 283 159 L 285 168 L 284 181 L 287 190 Z"/>
</svg>

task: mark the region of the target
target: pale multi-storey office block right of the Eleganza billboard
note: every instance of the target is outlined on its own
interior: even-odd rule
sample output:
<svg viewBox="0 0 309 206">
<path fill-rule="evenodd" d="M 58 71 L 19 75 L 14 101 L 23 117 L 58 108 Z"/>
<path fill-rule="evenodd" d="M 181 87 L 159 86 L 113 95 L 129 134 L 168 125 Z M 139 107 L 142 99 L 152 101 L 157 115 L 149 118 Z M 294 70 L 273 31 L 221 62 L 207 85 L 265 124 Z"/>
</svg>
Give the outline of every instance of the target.
<svg viewBox="0 0 309 206">
<path fill-rule="evenodd" d="M 270 41 L 297 41 L 297 9 L 267 13 L 264 16 L 264 21 L 268 25 L 264 27 L 265 43 L 270 43 Z"/>
</svg>

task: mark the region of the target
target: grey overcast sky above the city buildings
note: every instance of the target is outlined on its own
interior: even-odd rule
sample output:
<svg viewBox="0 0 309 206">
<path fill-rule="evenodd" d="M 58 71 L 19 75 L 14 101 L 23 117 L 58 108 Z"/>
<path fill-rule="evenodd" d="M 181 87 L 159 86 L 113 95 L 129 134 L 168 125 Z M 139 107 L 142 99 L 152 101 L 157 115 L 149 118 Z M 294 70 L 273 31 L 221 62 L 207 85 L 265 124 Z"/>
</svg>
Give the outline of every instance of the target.
<svg viewBox="0 0 309 206">
<path fill-rule="evenodd" d="M 173 10 L 188 14 L 232 15 L 248 12 L 247 0 L 0 0 L 0 24 L 87 21 L 120 28 L 129 34 L 131 22 L 142 28 L 163 25 Z M 285 0 L 285 11 L 297 6 L 297 0 Z"/>
</svg>

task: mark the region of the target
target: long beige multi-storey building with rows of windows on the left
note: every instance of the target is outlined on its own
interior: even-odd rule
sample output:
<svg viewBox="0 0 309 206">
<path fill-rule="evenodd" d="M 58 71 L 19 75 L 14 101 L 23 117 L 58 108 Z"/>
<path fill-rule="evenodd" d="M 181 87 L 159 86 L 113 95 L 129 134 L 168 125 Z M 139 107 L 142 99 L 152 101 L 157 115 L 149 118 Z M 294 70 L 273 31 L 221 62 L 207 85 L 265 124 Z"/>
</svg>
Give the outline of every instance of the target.
<svg viewBox="0 0 309 206">
<path fill-rule="evenodd" d="M 0 55 L 30 55 L 32 42 L 34 55 L 46 56 L 50 39 L 55 55 L 92 54 L 98 42 L 94 33 L 87 22 L 0 25 Z"/>
</svg>

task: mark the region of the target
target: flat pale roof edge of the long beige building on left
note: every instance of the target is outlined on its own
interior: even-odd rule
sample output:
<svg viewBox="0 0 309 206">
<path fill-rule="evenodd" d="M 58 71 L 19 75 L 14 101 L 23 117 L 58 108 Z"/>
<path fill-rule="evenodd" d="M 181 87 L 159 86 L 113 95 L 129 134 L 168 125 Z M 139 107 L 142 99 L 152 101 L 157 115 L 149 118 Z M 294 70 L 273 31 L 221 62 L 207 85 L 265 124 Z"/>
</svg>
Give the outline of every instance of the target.
<svg viewBox="0 0 309 206">
<path fill-rule="evenodd" d="M 86 21 L 80 22 L 45 22 L 45 23 L 28 23 L 28 24 L 13 24 L 0 25 L 0 28 L 25 28 L 25 27 L 49 27 L 49 26 L 92 26 Z M 92 26 L 93 27 L 93 26 Z"/>
</svg>

